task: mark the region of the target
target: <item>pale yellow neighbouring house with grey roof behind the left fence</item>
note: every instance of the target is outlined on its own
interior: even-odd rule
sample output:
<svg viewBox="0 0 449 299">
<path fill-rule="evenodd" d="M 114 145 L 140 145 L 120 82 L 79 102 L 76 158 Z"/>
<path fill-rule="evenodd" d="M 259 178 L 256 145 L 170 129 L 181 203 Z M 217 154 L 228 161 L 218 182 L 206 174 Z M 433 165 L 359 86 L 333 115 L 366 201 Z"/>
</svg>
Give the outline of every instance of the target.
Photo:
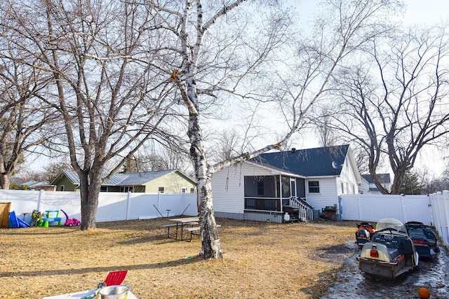
<svg viewBox="0 0 449 299">
<path fill-rule="evenodd" d="M 79 191 L 79 176 L 64 170 L 52 182 L 58 191 Z M 196 193 L 196 183 L 179 170 L 114 174 L 102 183 L 102 192 Z"/>
</svg>

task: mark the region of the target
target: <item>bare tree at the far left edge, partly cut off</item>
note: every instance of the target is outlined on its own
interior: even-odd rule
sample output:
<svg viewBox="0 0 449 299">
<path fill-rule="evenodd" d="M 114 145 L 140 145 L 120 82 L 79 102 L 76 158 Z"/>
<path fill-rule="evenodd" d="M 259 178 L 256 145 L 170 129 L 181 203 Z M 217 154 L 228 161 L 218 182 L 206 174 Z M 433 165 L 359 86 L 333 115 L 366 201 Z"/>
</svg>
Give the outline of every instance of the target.
<svg viewBox="0 0 449 299">
<path fill-rule="evenodd" d="M 27 151 L 48 139 L 58 118 L 44 96 L 51 77 L 20 63 L 29 53 L 7 39 L 0 39 L 0 53 L 0 188 L 8 189 Z"/>
</svg>

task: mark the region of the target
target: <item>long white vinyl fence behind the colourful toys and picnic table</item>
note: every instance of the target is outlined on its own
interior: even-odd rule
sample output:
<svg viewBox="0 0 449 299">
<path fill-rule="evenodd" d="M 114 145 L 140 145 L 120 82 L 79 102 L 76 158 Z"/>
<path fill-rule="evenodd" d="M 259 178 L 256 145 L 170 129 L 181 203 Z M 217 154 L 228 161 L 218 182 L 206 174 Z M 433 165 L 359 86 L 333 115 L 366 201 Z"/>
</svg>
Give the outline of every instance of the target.
<svg viewBox="0 0 449 299">
<path fill-rule="evenodd" d="M 31 212 L 63 209 L 70 218 L 81 219 L 79 192 L 0 190 L 0 202 L 11 202 L 11 211 L 24 219 Z M 24 213 L 29 213 L 25 215 Z M 161 216 L 197 216 L 196 193 L 112 193 L 101 192 L 97 222 L 121 221 Z M 60 217 L 65 221 L 64 214 Z"/>
</svg>

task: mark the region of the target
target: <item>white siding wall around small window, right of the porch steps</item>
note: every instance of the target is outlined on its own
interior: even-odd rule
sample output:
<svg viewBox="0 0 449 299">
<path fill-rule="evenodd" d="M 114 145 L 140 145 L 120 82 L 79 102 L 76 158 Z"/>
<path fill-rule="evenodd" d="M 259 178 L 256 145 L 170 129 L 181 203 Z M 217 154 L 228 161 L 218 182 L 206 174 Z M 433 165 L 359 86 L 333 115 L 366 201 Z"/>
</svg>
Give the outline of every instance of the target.
<svg viewBox="0 0 449 299">
<path fill-rule="evenodd" d="M 320 193 L 309 193 L 309 181 L 320 182 Z M 333 206 L 338 204 L 337 179 L 307 179 L 306 181 L 306 198 L 314 209 Z"/>
</svg>

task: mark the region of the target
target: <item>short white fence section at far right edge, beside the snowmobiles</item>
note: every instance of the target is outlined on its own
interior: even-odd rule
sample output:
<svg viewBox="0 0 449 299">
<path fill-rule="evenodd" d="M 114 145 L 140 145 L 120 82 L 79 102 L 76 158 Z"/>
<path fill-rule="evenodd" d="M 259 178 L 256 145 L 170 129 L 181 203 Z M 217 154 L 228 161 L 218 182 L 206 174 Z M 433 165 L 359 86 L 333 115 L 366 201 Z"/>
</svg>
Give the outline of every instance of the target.
<svg viewBox="0 0 449 299">
<path fill-rule="evenodd" d="M 446 246 L 449 244 L 449 191 L 429 195 L 435 229 Z"/>
</svg>

